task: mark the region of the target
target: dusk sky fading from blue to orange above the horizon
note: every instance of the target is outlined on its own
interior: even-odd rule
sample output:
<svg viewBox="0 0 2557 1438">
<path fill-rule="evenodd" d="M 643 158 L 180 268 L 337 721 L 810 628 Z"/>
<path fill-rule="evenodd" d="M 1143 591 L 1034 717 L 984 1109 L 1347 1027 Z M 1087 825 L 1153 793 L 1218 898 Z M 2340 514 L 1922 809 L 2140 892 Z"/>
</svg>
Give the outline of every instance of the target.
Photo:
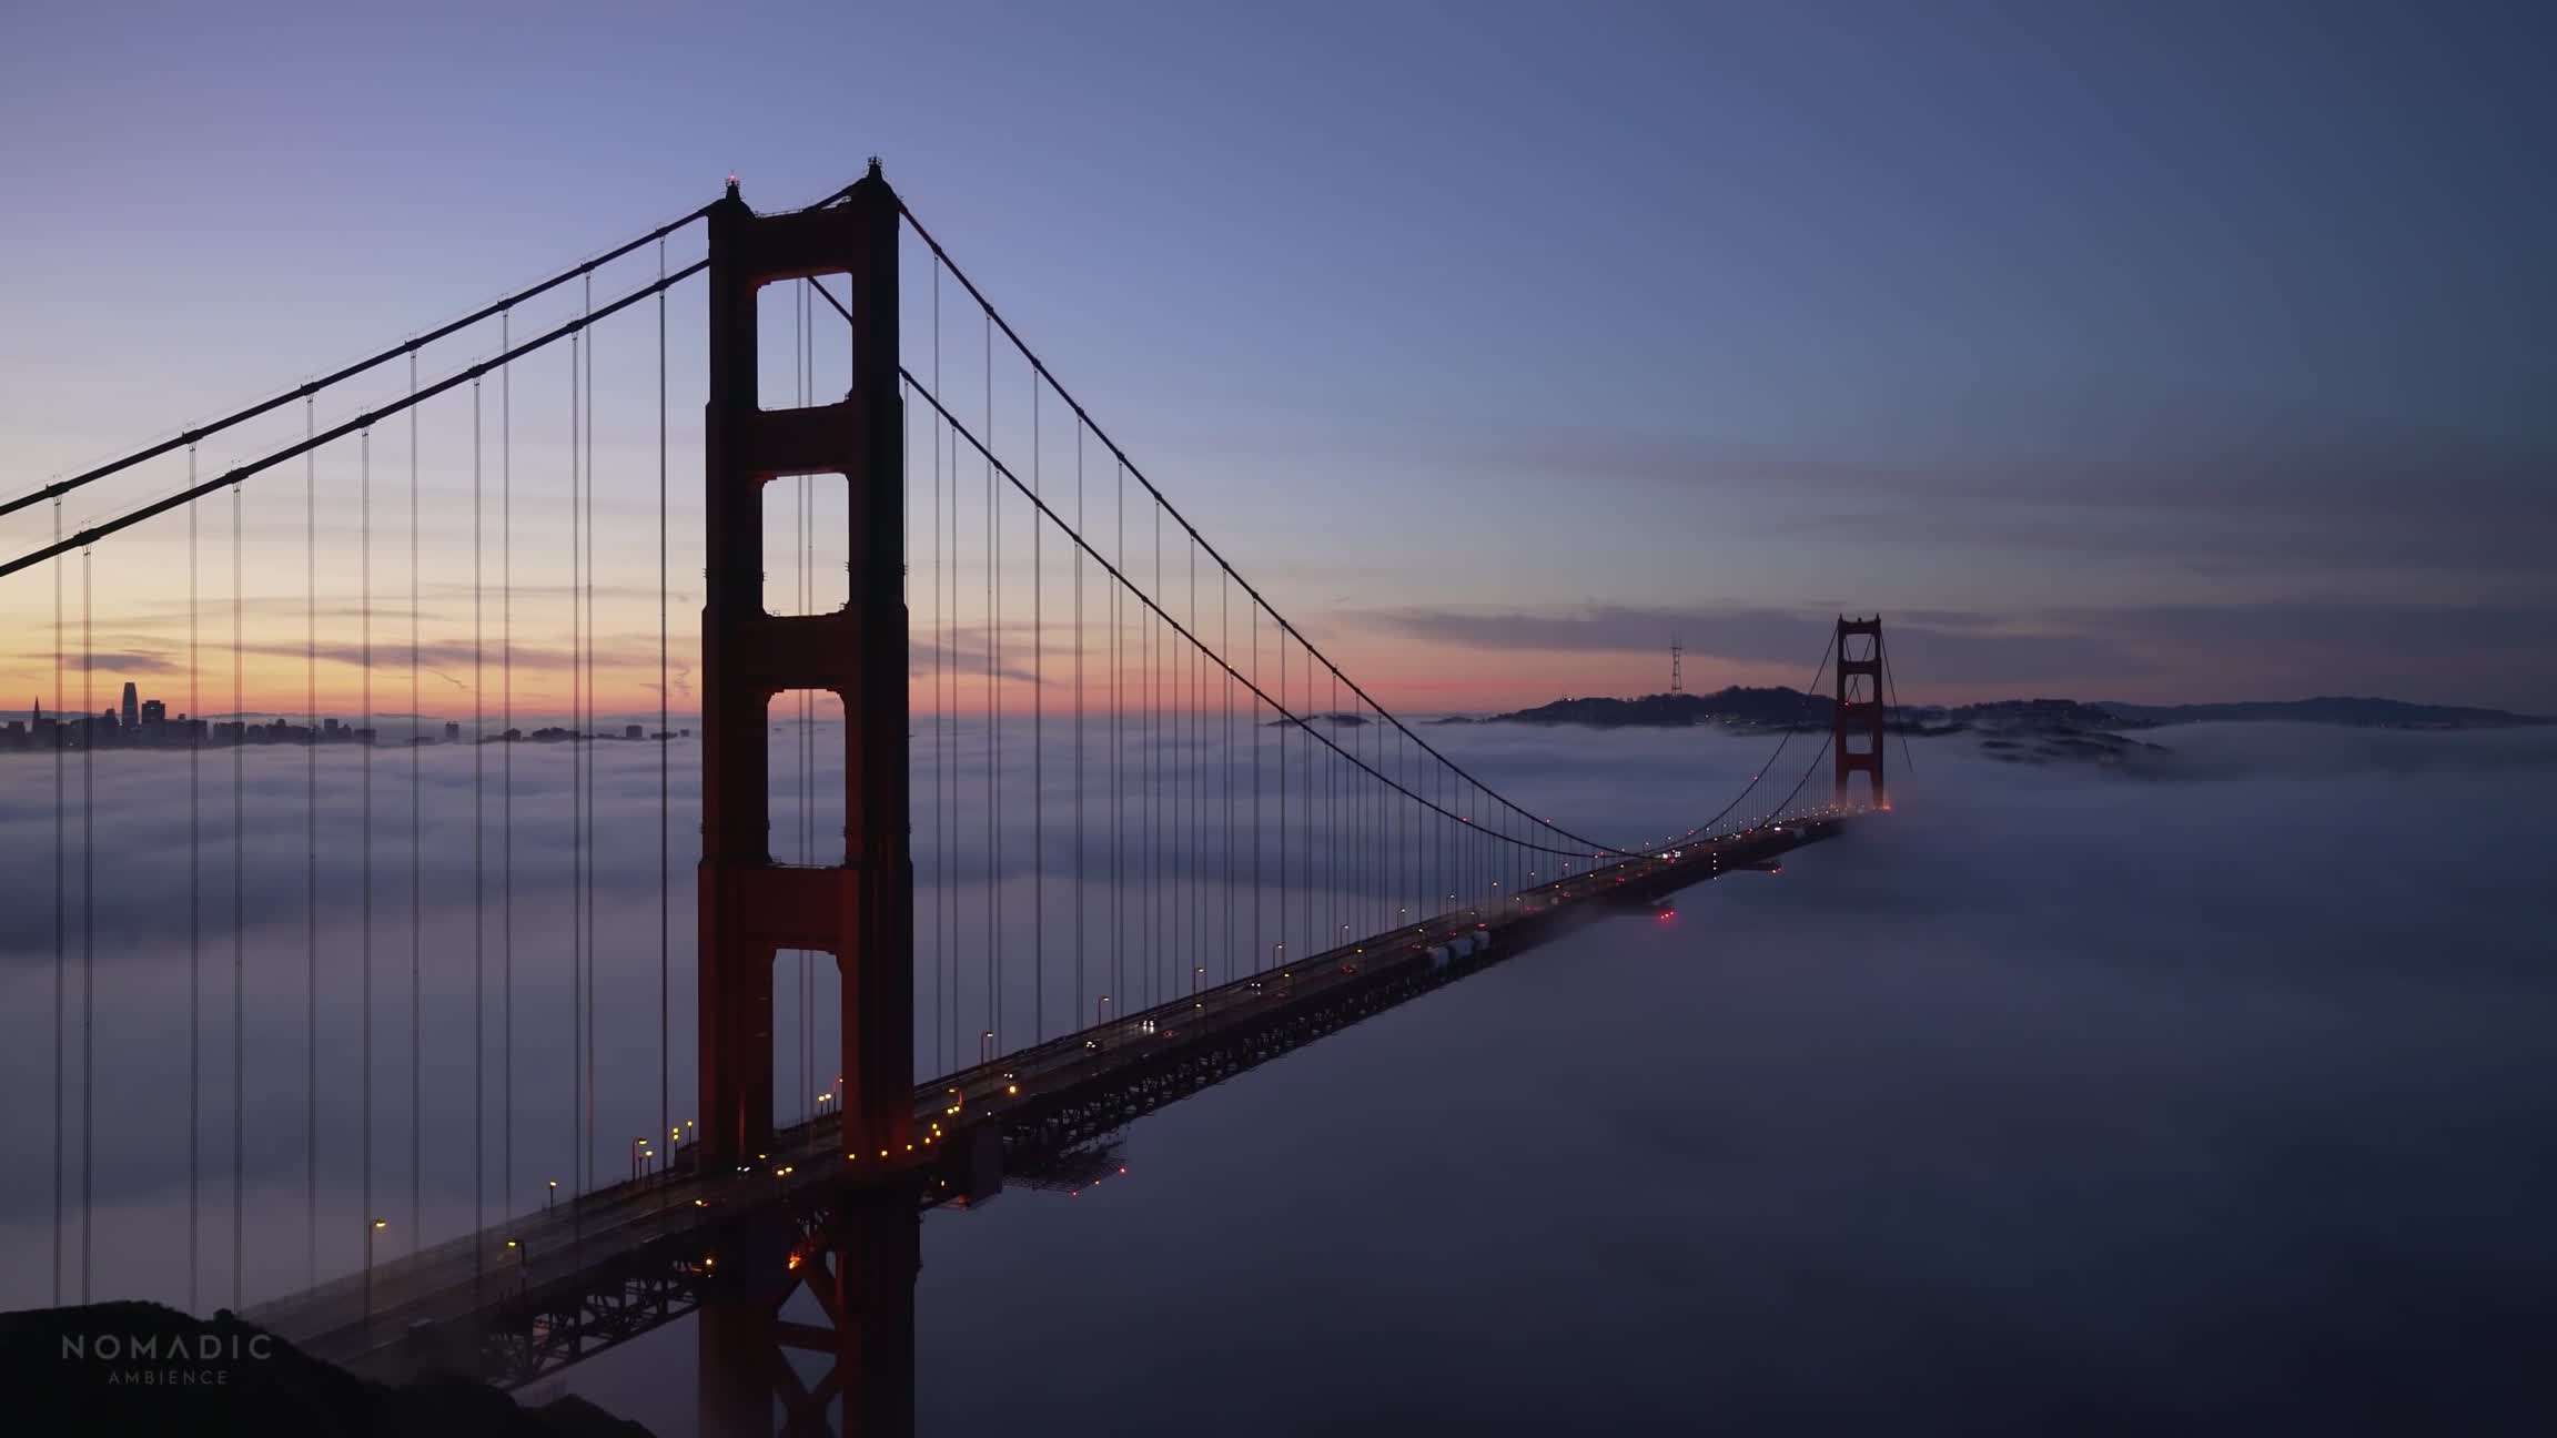
<svg viewBox="0 0 2557 1438">
<path fill-rule="evenodd" d="M 18 8 L 0 494 L 468 312 L 729 174 L 782 210 L 877 154 L 1181 512 L 1396 709 L 1657 691 L 1672 637 L 1690 688 L 1803 683 L 1831 614 L 1882 612 L 1920 701 L 2557 711 L 2547 38 L 2524 5 Z M 908 258 L 910 368 L 926 271 Z M 675 709 L 698 294 L 670 297 Z M 946 345 L 982 363 L 956 320 Z M 430 348 L 427 379 L 494 348 Z M 657 704 L 652 363 L 644 310 L 596 345 L 606 711 Z M 534 366 L 511 438 L 527 711 L 565 704 L 570 642 L 565 576 L 537 565 L 568 535 L 568 371 Z M 417 676 L 407 435 L 373 438 L 376 645 L 399 650 L 376 709 L 412 709 L 417 678 L 417 709 L 468 716 L 494 686 L 468 668 L 494 517 L 468 519 L 463 399 L 422 425 Z M 291 438 L 281 415 L 202 463 Z M 1064 463 L 1053 430 L 1038 453 Z M 361 468 L 332 445 L 312 473 L 320 635 L 299 476 L 243 486 L 240 709 L 361 704 Z M 64 522 L 182 478 L 171 455 Z M 923 489 L 908 507 L 938 555 Z M 199 647 L 179 519 L 97 550 L 97 706 L 189 670 L 197 711 L 233 706 L 228 514 L 199 522 Z M 1018 560 L 1025 509 L 1007 525 Z M 41 507 L 0 519 L 10 555 L 43 537 Z M 926 647 L 1000 673 L 990 650 L 1094 650 L 1020 612 L 1028 581 L 990 622 L 977 542 L 926 576 L 944 614 L 910 601 L 946 624 Z M 0 581 L 5 709 L 56 693 L 51 604 L 41 571 Z"/>
</svg>

